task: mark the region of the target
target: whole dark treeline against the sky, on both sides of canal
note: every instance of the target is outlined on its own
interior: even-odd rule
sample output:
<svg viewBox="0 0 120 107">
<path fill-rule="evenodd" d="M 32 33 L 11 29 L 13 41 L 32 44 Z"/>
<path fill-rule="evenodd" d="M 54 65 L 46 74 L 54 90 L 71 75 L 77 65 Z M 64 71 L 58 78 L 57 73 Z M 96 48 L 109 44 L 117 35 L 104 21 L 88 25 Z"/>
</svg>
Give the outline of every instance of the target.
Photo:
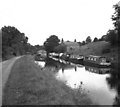
<svg viewBox="0 0 120 107">
<path fill-rule="evenodd" d="M 97 41 L 108 41 L 112 46 L 120 46 L 120 6 L 118 4 L 113 6 L 115 9 L 112 15 L 112 21 L 114 29 L 108 30 L 108 32 L 101 38 L 95 37 L 92 41 L 91 37 L 88 36 L 86 40 L 77 42 L 80 46 L 88 44 L 90 42 Z M 28 43 L 28 37 L 24 33 L 21 33 L 17 28 L 12 26 L 4 26 L 2 31 L 2 59 L 8 59 L 11 56 L 24 55 L 24 54 L 35 54 L 40 49 L 45 49 L 47 53 L 50 52 L 65 52 L 66 46 L 63 43 L 63 39 L 60 43 L 59 38 L 56 35 L 51 35 L 44 42 L 44 46 L 35 45 L 32 46 Z"/>
</svg>

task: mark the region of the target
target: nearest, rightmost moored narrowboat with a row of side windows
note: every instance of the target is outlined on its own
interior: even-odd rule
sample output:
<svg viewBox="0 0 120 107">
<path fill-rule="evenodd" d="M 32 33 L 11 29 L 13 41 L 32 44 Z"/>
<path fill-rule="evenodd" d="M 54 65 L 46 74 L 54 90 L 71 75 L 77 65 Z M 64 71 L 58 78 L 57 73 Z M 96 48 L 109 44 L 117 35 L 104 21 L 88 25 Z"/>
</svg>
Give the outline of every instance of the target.
<svg viewBox="0 0 120 107">
<path fill-rule="evenodd" d="M 110 67 L 111 62 L 110 59 L 106 57 L 89 55 L 84 57 L 84 65 L 96 67 Z"/>
</svg>

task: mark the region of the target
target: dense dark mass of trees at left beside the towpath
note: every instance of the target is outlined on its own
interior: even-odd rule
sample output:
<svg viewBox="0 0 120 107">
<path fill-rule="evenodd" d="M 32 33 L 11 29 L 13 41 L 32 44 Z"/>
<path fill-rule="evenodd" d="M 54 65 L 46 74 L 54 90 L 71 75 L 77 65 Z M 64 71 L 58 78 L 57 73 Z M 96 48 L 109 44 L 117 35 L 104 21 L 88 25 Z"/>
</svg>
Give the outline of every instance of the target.
<svg viewBox="0 0 120 107">
<path fill-rule="evenodd" d="M 33 46 L 28 43 L 28 37 L 15 27 L 4 26 L 1 31 L 2 60 L 18 55 L 34 54 L 40 48 L 39 45 Z"/>
</svg>

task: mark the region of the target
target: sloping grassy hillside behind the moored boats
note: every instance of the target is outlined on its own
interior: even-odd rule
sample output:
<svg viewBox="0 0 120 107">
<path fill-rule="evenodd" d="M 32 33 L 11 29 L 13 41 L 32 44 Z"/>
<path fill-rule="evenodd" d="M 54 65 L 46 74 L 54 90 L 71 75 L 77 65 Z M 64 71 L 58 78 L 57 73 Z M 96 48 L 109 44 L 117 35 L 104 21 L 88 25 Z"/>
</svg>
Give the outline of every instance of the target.
<svg viewBox="0 0 120 107">
<path fill-rule="evenodd" d="M 119 67 L 120 61 L 120 47 L 111 46 L 110 43 L 106 41 L 98 41 L 88 43 L 86 45 L 80 46 L 79 49 L 76 48 L 72 52 L 77 55 L 98 55 L 113 58 L 112 66 L 114 68 Z"/>
</svg>

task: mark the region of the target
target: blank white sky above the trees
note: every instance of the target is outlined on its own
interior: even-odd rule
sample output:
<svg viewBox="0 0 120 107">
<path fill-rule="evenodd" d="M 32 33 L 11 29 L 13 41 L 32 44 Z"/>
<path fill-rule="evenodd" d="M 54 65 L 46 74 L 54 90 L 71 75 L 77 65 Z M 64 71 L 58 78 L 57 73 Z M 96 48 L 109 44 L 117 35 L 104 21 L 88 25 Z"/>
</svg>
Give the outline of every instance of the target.
<svg viewBox="0 0 120 107">
<path fill-rule="evenodd" d="M 113 5 L 119 0 L 0 0 L 0 28 L 14 26 L 32 45 L 46 38 L 100 38 L 113 28 Z"/>
</svg>

